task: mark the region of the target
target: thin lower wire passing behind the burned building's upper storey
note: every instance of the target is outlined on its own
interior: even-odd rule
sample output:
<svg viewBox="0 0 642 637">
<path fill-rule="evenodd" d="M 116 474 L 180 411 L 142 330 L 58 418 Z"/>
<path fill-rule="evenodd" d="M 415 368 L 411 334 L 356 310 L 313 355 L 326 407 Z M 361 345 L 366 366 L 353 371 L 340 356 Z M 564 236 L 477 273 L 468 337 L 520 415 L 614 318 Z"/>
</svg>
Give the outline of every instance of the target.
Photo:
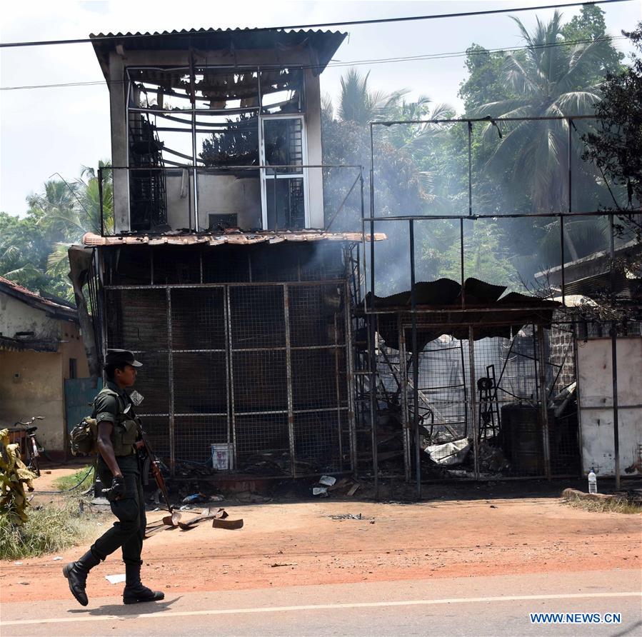
<svg viewBox="0 0 642 637">
<path fill-rule="evenodd" d="M 328 69 L 336 69 L 345 66 L 363 66 L 363 65 L 374 65 L 374 64 L 391 64 L 395 62 L 413 62 L 413 61 L 423 61 L 423 60 L 443 60 L 451 58 L 461 58 L 466 56 L 476 56 L 476 55 L 490 55 L 493 53 L 515 53 L 517 51 L 528 51 L 528 50 L 541 50 L 541 49 L 553 49 L 558 46 L 575 46 L 576 44 L 593 44 L 598 42 L 610 42 L 613 40 L 625 40 L 625 36 L 603 36 L 601 38 L 587 38 L 581 40 L 568 40 L 561 42 L 552 42 L 550 44 L 536 44 L 533 46 L 503 46 L 496 49 L 473 49 L 466 51 L 452 51 L 446 53 L 428 53 L 416 56 L 396 56 L 392 58 L 373 58 L 366 60 L 353 60 L 353 61 L 336 61 L 330 62 L 326 65 Z M 301 69 L 317 69 L 318 65 L 303 65 L 298 68 Z M 69 88 L 76 86 L 103 86 L 104 84 L 123 84 L 123 80 L 94 80 L 86 82 L 62 82 L 59 84 L 31 84 L 25 86 L 0 86 L 0 91 L 19 91 L 24 89 L 61 89 Z"/>
</svg>

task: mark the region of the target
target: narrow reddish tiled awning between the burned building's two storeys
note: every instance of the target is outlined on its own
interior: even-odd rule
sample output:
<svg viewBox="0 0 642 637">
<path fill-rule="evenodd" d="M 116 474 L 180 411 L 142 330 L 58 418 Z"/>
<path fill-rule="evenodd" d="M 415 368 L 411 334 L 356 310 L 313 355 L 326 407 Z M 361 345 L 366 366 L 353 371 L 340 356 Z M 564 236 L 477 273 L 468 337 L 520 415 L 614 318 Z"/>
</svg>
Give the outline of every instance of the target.
<svg viewBox="0 0 642 637">
<path fill-rule="evenodd" d="M 100 236 L 91 232 L 83 236 L 84 246 L 251 246 L 256 244 L 281 244 L 284 241 L 361 241 L 361 232 L 323 232 L 321 230 L 306 230 L 300 232 L 231 232 L 229 234 L 160 234 L 132 236 Z M 366 234 L 370 240 L 370 235 Z M 375 233 L 375 241 L 383 241 L 386 235 Z"/>
</svg>

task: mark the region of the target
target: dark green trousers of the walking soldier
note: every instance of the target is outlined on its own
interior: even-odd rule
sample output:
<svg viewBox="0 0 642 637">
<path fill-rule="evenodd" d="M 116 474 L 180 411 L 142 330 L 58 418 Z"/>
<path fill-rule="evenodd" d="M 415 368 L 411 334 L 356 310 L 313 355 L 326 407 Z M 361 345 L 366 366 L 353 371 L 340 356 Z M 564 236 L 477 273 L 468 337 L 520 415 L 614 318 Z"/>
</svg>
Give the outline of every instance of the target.
<svg viewBox="0 0 642 637">
<path fill-rule="evenodd" d="M 111 512 L 118 521 L 94 542 L 91 551 L 96 557 L 104 560 L 106 556 L 122 547 L 124 563 L 140 564 L 147 518 L 139 458 L 136 454 L 116 456 L 116 462 L 125 478 L 126 493 L 111 503 Z M 96 471 L 104 488 L 109 488 L 114 476 L 102 458 L 99 458 Z"/>
</svg>

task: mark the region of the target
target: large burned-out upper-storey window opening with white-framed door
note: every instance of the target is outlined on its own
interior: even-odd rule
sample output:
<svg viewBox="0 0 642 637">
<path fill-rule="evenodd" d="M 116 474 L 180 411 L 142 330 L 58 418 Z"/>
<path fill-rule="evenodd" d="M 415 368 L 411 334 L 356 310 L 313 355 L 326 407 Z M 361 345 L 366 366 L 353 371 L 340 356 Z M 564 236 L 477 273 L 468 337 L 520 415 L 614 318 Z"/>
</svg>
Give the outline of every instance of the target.
<svg viewBox="0 0 642 637">
<path fill-rule="evenodd" d="M 201 231 L 231 218 L 242 229 L 305 226 L 302 69 L 146 67 L 128 77 L 132 230 Z M 272 179 L 285 181 L 275 189 Z"/>
</svg>

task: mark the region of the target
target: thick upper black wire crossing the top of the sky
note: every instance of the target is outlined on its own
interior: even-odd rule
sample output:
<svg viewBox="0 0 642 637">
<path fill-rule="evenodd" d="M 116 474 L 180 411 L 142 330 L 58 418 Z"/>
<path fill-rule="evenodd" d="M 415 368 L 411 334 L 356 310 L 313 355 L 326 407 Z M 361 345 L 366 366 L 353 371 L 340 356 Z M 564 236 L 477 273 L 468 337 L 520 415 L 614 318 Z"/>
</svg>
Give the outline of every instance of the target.
<svg viewBox="0 0 642 637">
<path fill-rule="evenodd" d="M 288 26 L 259 26 L 252 29 L 247 29 L 247 31 L 252 31 L 253 33 L 257 31 L 284 31 L 286 29 L 320 29 L 321 27 L 329 26 L 358 26 L 364 24 L 388 24 L 393 22 L 409 22 L 409 21 L 418 21 L 418 20 L 438 20 L 443 18 L 465 18 L 473 16 L 488 16 L 491 14 L 506 14 L 506 13 L 518 13 L 519 11 L 540 11 L 541 9 L 563 9 L 568 6 L 591 6 L 597 4 L 612 4 L 614 2 L 631 2 L 633 0 L 595 0 L 593 2 L 565 2 L 563 4 L 543 4 L 541 6 L 518 6 L 513 9 L 486 9 L 485 11 L 461 11 L 453 14 L 430 14 L 426 16 L 403 16 L 399 18 L 376 18 L 371 20 L 346 20 L 340 22 L 319 22 L 317 24 L 291 24 Z M 244 31 L 244 29 L 239 29 L 239 31 Z M 214 33 L 224 33 L 224 31 L 214 31 Z M 231 31 L 234 33 L 234 30 Z M 201 36 L 207 35 L 208 31 L 176 31 L 169 34 L 156 34 L 162 35 L 164 37 L 189 37 L 189 36 Z M 76 39 L 67 39 L 67 40 L 44 40 L 44 41 L 31 41 L 31 42 L 7 42 L 0 44 L 0 49 L 16 47 L 16 46 L 51 46 L 52 44 L 89 44 L 95 42 L 101 42 L 105 40 L 117 39 L 119 41 L 127 41 L 131 39 L 141 38 L 141 37 L 150 37 L 154 34 L 121 34 L 119 36 L 94 36 L 91 38 L 76 38 Z"/>
</svg>

